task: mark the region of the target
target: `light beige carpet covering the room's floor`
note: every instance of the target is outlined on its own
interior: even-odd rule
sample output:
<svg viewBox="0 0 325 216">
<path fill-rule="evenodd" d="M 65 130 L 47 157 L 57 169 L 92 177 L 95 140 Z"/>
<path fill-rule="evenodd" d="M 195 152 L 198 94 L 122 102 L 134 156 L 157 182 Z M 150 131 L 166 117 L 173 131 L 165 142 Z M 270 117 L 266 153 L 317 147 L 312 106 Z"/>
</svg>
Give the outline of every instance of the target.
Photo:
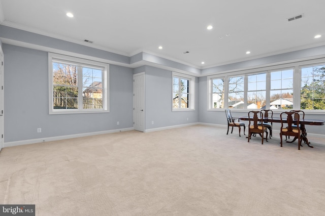
<svg viewBox="0 0 325 216">
<path fill-rule="evenodd" d="M 36 215 L 325 215 L 325 140 L 188 126 L 4 148 L 0 202 Z M 246 129 L 247 135 L 247 129 Z"/>
</svg>

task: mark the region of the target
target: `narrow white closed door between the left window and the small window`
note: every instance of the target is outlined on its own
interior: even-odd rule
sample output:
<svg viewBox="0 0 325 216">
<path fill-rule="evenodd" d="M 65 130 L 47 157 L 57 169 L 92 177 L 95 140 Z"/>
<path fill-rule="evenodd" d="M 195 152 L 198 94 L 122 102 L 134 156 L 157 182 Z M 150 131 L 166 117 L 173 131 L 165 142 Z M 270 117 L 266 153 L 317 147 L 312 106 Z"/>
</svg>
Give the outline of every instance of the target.
<svg viewBox="0 0 325 216">
<path fill-rule="evenodd" d="M 136 131 L 145 130 L 145 73 L 133 75 L 133 126 Z"/>
</svg>

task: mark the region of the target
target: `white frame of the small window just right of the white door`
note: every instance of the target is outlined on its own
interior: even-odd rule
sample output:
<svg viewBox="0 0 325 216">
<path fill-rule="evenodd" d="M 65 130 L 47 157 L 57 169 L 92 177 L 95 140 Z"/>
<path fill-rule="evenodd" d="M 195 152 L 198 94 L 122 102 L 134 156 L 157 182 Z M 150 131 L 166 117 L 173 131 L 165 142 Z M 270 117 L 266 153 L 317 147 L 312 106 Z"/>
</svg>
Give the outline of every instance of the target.
<svg viewBox="0 0 325 216">
<path fill-rule="evenodd" d="M 174 77 L 183 78 L 188 80 L 188 108 L 174 108 L 173 105 L 173 80 Z M 192 111 L 195 110 L 195 77 L 183 73 L 172 72 L 172 111 Z"/>
</svg>

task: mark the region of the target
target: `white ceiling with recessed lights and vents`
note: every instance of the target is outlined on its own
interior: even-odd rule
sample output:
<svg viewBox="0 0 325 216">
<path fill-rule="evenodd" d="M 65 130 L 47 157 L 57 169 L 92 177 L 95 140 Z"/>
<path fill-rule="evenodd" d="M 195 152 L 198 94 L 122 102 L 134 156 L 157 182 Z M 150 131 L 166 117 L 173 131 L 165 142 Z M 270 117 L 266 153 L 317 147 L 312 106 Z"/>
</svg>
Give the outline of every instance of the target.
<svg viewBox="0 0 325 216">
<path fill-rule="evenodd" d="M 0 0 L 0 3 L 2 25 L 126 56 L 147 52 L 197 68 L 325 45 L 324 0 Z M 67 17 L 67 12 L 74 17 Z M 288 18 L 300 14 L 303 18 L 288 22 Z M 208 25 L 214 28 L 207 30 Z M 315 39 L 316 34 L 322 37 Z M 183 54 L 186 51 L 189 53 Z M 247 55 L 246 51 L 251 53 Z"/>
</svg>

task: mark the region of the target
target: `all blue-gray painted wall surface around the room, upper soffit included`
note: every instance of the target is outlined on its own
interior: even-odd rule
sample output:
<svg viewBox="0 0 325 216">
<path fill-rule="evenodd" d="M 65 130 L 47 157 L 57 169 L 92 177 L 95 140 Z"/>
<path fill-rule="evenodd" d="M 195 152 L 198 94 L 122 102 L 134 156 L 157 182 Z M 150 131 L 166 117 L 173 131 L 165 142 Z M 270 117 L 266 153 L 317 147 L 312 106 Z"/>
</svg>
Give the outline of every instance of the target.
<svg viewBox="0 0 325 216">
<path fill-rule="evenodd" d="M 5 60 L 5 143 L 133 127 L 133 74 L 139 72 L 146 74 L 146 130 L 196 122 L 225 125 L 223 110 L 207 110 L 207 75 L 284 60 L 312 56 L 316 58 L 325 54 L 325 46 L 321 46 L 199 70 L 174 64 L 159 57 L 155 58 L 146 53 L 130 58 L 2 25 L 0 36 L 41 46 L 46 51 L 63 50 L 113 62 L 110 64 L 110 113 L 49 115 L 48 53 L 2 44 Z M 127 67 L 131 66 L 131 62 L 142 60 L 145 60 L 144 65 L 138 68 Z M 168 66 L 168 69 L 146 65 L 152 63 L 156 63 L 157 67 L 161 67 L 159 64 L 167 64 L 165 66 Z M 205 75 L 196 78 L 194 111 L 172 111 L 172 71 L 169 69 L 171 65 Z M 247 112 L 233 111 L 233 114 L 242 116 L 247 115 Z M 306 118 L 325 119 L 325 115 L 310 113 Z M 120 122 L 119 125 L 116 124 L 117 121 Z M 278 126 L 276 124 L 275 128 Z M 38 127 L 42 128 L 42 133 L 37 133 Z M 307 129 L 309 133 L 323 134 L 323 126 L 307 126 Z"/>
</svg>

